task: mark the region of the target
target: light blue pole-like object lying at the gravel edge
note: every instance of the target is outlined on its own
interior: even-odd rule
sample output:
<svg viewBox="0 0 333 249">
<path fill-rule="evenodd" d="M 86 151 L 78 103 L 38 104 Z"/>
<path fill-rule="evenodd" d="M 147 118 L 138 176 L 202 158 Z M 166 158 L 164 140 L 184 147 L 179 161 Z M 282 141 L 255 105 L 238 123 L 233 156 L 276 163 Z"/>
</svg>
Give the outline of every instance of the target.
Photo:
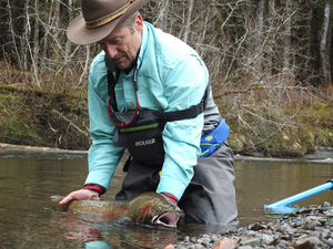
<svg viewBox="0 0 333 249">
<path fill-rule="evenodd" d="M 291 207 L 290 205 L 297 203 L 302 199 L 305 199 L 310 196 L 316 195 L 319 193 L 333 189 L 333 179 L 329 180 L 325 184 L 322 184 L 317 187 L 311 188 L 309 190 L 302 191 L 297 195 L 291 196 L 289 198 L 282 199 L 280 201 L 276 201 L 274 204 L 265 205 L 265 209 L 271 209 L 273 212 L 278 214 L 290 214 L 292 212 L 295 207 Z"/>
</svg>

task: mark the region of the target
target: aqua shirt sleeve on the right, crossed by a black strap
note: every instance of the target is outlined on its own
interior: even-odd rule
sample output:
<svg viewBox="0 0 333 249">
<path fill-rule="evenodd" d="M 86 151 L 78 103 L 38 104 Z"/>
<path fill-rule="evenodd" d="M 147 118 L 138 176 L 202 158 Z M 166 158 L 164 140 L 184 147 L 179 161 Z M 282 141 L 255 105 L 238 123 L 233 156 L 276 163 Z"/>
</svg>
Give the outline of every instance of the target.
<svg viewBox="0 0 333 249">
<path fill-rule="evenodd" d="M 186 110 L 203 97 L 209 75 L 203 62 L 188 55 L 168 72 L 164 91 L 168 108 L 164 112 Z M 164 164 L 158 193 L 170 193 L 178 199 L 193 177 L 193 167 L 200 155 L 203 114 L 194 118 L 168 122 L 163 131 Z"/>
</svg>

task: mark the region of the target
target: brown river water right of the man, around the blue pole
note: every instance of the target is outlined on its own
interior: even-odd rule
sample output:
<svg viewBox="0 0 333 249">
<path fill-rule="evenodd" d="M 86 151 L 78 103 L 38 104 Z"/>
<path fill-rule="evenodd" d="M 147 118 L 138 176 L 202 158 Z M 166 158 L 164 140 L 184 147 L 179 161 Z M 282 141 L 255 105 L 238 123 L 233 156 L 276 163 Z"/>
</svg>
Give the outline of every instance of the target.
<svg viewBox="0 0 333 249">
<path fill-rule="evenodd" d="M 266 219 L 263 206 L 324 184 L 333 177 L 332 164 L 305 162 L 236 162 L 236 195 L 240 219 Z M 325 191 L 299 201 L 297 206 L 333 201 Z"/>
</svg>

